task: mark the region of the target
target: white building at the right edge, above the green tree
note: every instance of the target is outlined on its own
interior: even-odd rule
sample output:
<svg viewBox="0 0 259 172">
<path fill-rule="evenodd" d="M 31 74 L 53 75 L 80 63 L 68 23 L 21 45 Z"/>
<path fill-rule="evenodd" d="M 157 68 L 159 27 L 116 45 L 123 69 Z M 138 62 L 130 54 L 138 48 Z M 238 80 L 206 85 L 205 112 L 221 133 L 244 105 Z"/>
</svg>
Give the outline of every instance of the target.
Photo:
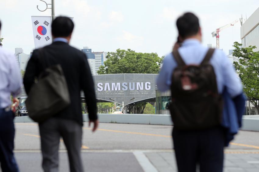
<svg viewBox="0 0 259 172">
<path fill-rule="evenodd" d="M 259 51 L 259 8 L 244 22 L 240 28 L 243 47 L 256 46 Z"/>
</svg>

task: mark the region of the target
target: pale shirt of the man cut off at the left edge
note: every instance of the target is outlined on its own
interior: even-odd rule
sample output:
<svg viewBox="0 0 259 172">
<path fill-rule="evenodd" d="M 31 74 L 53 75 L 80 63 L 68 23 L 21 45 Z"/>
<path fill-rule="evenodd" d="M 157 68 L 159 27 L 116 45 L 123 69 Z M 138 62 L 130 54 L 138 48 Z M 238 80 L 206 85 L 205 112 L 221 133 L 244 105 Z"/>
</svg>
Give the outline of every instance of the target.
<svg viewBox="0 0 259 172">
<path fill-rule="evenodd" d="M 21 86 L 22 77 L 16 57 L 0 46 L 0 108 L 11 105 L 10 95 L 16 97 Z"/>
</svg>

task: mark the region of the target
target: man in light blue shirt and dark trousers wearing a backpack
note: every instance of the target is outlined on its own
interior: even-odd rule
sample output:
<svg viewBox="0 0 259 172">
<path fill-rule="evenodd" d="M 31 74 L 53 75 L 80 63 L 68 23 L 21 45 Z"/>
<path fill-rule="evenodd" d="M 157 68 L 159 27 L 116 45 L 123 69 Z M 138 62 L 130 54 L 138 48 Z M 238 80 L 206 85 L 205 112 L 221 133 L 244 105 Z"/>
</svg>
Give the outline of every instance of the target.
<svg viewBox="0 0 259 172">
<path fill-rule="evenodd" d="M 186 65 L 200 64 L 208 48 L 201 45 L 201 29 L 199 20 L 193 13 L 185 13 L 176 22 L 179 39 L 183 41 L 178 52 Z M 178 43 L 176 43 L 176 46 Z M 242 84 L 234 67 L 221 50 L 215 50 L 210 64 L 214 68 L 218 93 L 227 88 L 229 95 L 234 98 L 242 94 Z M 177 67 L 172 53 L 164 61 L 157 86 L 160 91 L 171 88 L 171 78 Z M 221 126 L 203 130 L 182 131 L 176 128 L 172 132 L 177 167 L 179 172 L 196 171 L 200 164 L 201 172 L 222 172 L 224 157 L 224 129 Z"/>
</svg>

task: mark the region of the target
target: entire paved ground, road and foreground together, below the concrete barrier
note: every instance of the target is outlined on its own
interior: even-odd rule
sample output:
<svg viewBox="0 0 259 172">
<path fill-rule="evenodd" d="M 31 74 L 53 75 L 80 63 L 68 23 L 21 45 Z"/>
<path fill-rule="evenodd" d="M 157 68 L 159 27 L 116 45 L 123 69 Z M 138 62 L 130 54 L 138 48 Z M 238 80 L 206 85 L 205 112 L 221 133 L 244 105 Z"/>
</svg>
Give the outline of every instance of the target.
<svg viewBox="0 0 259 172">
<path fill-rule="evenodd" d="M 37 123 L 15 123 L 15 127 L 15 156 L 20 171 L 42 171 Z M 82 140 L 84 170 L 91 172 L 176 171 L 171 132 L 172 126 L 100 123 L 98 131 L 92 133 L 85 123 Z M 235 160 L 243 158 L 244 155 L 247 160 L 240 159 L 246 163 L 244 168 L 259 168 L 257 164 L 248 163 L 258 162 L 259 164 L 258 132 L 240 131 L 231 145 L 226 148 L 225 154 L 227 157 L 225 171 L 237 168 L 234 164 Z M 249 159 L 250 155 L 253 155 L 254 159 Z M 69 171 L 66 148 L 62 141 L 59 157 L 59 171 Z M 243 167 L 240 166 L 240 169 L 243 170 Z"/>
</svg>

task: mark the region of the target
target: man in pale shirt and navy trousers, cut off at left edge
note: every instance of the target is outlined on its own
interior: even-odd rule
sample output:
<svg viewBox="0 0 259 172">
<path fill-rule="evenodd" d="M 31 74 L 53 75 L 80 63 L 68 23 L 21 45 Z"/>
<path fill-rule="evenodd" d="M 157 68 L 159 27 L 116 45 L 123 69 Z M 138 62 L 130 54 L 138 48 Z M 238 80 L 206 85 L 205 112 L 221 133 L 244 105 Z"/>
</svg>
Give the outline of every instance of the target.
<svg viewBox="0 0 259 172">
<path fill-rule="evenodd" d="M 13 155 L 15 129 L 10 96 L 18 103 L 15 97 L 20 92 L 21 84 L 21 74 L 15 56 L 0 46 L 0 163 L 3 172 L 19 171 Z"/>
</svg>

